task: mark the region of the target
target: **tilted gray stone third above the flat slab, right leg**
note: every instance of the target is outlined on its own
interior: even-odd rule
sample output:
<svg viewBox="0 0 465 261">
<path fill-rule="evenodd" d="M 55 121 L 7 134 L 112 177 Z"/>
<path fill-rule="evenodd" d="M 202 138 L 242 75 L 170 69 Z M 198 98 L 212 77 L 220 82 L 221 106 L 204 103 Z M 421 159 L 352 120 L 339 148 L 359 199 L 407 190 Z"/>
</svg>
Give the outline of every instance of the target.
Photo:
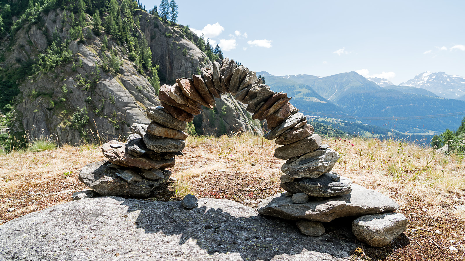
<svg viewBox="0 0 465 261">
<path fill-rule="evenodd" d="M 321 137 L 319 137 L 318 134 L 313 134 L 303 140 L 276 148 L 276 150 L 274 150 L 274 157 L 279 159 L 297 157 L 299 155 L 318 150 L 321 143 Z"/>
</svg>

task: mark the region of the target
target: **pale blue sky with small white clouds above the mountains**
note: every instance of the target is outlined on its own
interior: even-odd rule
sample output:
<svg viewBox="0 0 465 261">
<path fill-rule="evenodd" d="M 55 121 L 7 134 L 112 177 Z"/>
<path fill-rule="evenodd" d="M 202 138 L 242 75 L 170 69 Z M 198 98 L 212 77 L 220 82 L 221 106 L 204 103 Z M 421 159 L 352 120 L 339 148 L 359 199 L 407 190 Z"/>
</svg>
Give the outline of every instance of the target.
<svg viewBox="0 0 465 261">
<path fill-rule="evenodd" d="M 148 10 L 160 0 L 141 2 Z M 203 32 L 252 71 L 358 71 L 394 84 L 426 71 L 465 76 L 465 1 L 176 3 L 179 24 Z"/>
</svg>

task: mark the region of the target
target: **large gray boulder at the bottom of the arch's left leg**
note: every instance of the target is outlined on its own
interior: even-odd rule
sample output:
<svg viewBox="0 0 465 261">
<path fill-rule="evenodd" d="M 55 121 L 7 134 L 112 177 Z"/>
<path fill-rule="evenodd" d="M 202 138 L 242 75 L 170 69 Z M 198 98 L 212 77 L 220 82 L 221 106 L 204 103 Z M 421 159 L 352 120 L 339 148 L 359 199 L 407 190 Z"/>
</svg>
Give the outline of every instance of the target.
<svg viewBox="0 0 465 261">
<path fill-rule="evenodd" d="M 148 197 L 168 181 L 171 172 L 166 171 L 164 178 L 156 181 L 143 179 L 141 182 L 128 183 L 118 176 L 125 169 L 111 168 L 110 162 L 100 161 L 87 164 L 79 173 L 79 180 L 101 196 Z M 128 169 L 126 169 L 128 170 Z M 137 169 L 132 169 L 137 171 Z"/>
</svg>

